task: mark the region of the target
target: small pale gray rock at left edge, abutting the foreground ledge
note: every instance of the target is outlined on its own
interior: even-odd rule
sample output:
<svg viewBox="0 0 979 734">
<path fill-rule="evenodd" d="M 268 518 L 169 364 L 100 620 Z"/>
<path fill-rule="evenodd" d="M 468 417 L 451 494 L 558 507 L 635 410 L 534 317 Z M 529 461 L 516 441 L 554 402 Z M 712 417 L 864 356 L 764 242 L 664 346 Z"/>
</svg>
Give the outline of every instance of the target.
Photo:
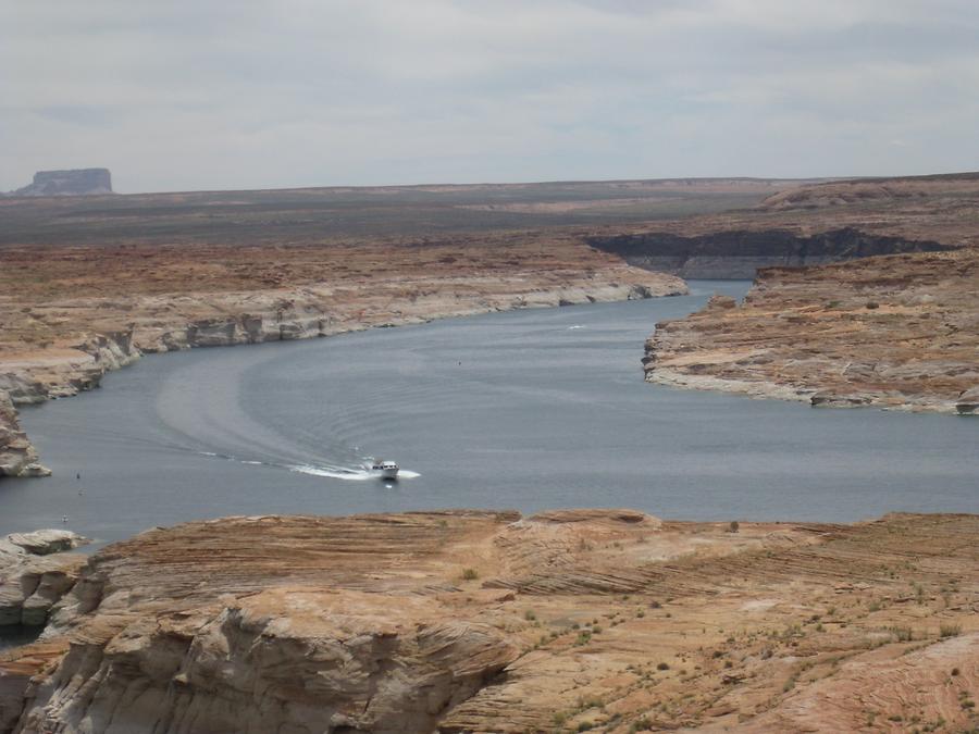
<svg viewBox="0 0 979 734">
<path fill-rule="evenodd" d="M 85 543 L 80 535 L 58 530 L 0 539 L 0 627 L 42 626 L 85 563 L 84 557 L 63 551 Z"/>
</svg>

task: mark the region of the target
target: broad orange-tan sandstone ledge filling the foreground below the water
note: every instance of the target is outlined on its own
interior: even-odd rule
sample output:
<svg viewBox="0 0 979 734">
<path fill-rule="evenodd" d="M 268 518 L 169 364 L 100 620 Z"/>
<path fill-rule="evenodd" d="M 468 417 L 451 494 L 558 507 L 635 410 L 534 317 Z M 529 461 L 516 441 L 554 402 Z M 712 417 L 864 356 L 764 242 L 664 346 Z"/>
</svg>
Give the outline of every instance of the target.
<svg viewBox="0 0 979 734">
<path fill-rule="evenodd" d="M 0 732 L 969 729 L 977 532 L 631 510 L 152 530 L 0 655 Z"/>
</svg>

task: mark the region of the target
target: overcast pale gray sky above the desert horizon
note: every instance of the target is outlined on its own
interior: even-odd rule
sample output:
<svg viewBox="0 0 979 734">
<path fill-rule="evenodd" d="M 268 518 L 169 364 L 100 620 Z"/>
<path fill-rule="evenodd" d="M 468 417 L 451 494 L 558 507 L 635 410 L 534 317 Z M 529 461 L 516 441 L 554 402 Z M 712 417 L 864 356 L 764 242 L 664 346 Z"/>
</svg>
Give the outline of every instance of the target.
<svg viewBox="0 0 979 734">
<path fill-rule="evenodd" d="M 977 0 L 0 0 L 0 190 L 979 169 Z"/>
</svg>

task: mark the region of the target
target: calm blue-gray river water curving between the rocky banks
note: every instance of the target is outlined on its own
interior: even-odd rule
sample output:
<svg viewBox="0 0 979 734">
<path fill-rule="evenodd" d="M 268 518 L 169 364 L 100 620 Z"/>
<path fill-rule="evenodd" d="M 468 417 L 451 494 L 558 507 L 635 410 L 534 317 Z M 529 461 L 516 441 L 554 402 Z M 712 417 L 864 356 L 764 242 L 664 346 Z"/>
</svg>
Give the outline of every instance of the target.
<svg viewBox="0 0 979 734">
<path fill-rule="evenodd" d="M 748 284 L 692 285 L 682 298 L 147 358 L 100 390 L 23 411 L 55 475 L 0 483 L 0 533 L 67 515 L 108 542 L 226 514 L 451 507 L 979 512 L 979 420 L 645 384 L 656 321 Z M 368 455 L 418 476 L 363 480 Z"/>
</svg>

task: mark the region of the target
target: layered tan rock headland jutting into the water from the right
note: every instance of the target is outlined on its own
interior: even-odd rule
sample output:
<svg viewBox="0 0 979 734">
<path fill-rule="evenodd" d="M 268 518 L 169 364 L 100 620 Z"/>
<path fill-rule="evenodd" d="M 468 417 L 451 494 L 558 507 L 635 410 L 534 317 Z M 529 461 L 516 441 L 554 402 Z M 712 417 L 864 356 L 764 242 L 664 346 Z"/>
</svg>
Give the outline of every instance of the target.
<svg viewBox="0 0 979 734">
<path fill-rule="evenodd" d="M 761 271 L 744 303 L 658 324 L 648 382 L 814 407 L 970 414 L 979 250 Z"/>
</svg>

